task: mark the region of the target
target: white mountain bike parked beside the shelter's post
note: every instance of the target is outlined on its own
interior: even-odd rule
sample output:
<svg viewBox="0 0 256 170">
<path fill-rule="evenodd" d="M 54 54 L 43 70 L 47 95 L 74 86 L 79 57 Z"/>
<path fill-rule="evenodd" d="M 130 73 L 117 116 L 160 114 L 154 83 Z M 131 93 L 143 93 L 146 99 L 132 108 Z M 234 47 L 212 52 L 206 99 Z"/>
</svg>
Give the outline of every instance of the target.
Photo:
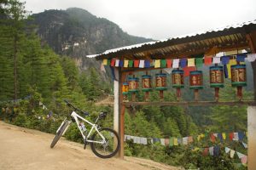
<svg viewBox="0 0 256 170">
<path fill-rule="evenodd" d="M 67 131 L 67 128 L 72 122 L 76 122 L 80 133 L 84 139 L 84 150 L 87 144 L 90 144 L 90 148 L 96 156 L 101 158 L 110 158 L 114 156 L 120 147 L 120 139 L 117 132 L 112 128 L 100 127 L 97 122 L 100 119 L 105 119 L 107 116 L 106 111 L 100 112 L 99 116 L 96 118 L 96 122 L 92 123 L 86 120 L 84 117 L 79 116 L 77 112 L 84 114 L 84 116 L 89 116 L 90 114 L 86 111 L 81 111 L 79 108 L 75 107 L 67 100 L 64 100 L 67 106 L 71 107 L 73 111 L 70 117 L 66 117 L 61 123 L 61 126 L 57 129 L 55 138 L 50 144 L 50 148 L 53 148 L 58 140 Z M 70 120 L 69 120 L 70 119 Z M 87 133 L 87 128 L 84 126 L 84 122 L 90 125 L 90 131 Z"/>
</svg>

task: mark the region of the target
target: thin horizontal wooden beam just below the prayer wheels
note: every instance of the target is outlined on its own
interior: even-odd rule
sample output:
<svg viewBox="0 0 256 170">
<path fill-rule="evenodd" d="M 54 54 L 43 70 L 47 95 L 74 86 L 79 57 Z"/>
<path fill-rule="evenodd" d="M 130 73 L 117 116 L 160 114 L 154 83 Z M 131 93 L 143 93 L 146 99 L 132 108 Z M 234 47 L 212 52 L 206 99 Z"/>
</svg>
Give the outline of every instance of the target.
<svg viewBox="0 0 256 170">
<path fill-rule="evenodd" d="M 172 101 L 154 101 L 154 102 L 123 102 L 123 105 L 129 107 L 131 105 L 159 105 L 159 106 L 173 106 L 173 105 L 256 105 L 255 100 L 247 101 L 189 101 L 189 102 L 172 102 Z"/>
</svg>

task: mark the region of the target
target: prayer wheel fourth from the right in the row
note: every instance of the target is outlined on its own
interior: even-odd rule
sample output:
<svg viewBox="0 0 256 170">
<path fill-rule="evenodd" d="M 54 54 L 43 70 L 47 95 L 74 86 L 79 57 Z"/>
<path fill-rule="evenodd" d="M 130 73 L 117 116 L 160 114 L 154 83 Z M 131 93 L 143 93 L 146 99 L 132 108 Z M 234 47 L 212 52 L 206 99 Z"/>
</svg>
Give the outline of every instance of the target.
<svg viewBox="0 0 256 170">
<path fill-rule="evenodd" d="M 172 88 L 177 89 L 177 100 L 180 100 L 181 89 L 184 88 L 184 71 L 182 70 L 173 70 L 172 71 Z"/>
</svg>

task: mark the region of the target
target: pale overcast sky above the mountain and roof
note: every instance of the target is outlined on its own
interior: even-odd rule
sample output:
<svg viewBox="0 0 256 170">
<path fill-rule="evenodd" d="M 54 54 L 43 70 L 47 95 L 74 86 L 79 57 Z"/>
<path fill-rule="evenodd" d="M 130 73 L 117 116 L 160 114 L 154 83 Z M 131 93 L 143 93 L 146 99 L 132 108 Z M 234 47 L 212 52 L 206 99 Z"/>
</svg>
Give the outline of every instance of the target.
<svg viewBox="0 0 256 170">
<path fill-rule="evenodd" d="M 79 7 L 134 36 L 165 39 L 256 20 L 256 0 L 26 0 L 32 13 Z"/>
</svg>

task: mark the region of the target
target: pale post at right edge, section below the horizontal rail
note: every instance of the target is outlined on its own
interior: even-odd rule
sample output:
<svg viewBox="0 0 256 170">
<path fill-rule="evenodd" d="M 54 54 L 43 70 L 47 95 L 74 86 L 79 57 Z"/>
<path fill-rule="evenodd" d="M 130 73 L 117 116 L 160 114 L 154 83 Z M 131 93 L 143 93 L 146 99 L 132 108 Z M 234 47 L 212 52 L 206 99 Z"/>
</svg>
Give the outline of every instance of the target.
<svg viewBox="0 0 256 170">
<path fill-rule="evenodd" d="M 248 170 L 256 167 L 256 106 L 247 108 L 247 130 L 248 130 Z"/>
</svg>

